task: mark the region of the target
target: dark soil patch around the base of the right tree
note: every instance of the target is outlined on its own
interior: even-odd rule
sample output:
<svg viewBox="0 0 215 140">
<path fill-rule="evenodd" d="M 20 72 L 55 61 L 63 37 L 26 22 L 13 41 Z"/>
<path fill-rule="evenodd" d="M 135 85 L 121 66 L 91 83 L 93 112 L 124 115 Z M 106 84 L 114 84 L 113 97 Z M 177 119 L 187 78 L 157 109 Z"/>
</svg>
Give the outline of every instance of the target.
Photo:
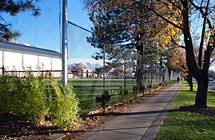
<svg viewBox="0 0 215 140">
<path fill-rule="evenodd" d="M 215 116 L 214 107 L 196 108 L 194 105 L 189 105 L 189 106 L 181 106 L 179 109 L 181 111 L 189 111 L 189 112 L 194 112 L 202 115 Z"/>
</svg>

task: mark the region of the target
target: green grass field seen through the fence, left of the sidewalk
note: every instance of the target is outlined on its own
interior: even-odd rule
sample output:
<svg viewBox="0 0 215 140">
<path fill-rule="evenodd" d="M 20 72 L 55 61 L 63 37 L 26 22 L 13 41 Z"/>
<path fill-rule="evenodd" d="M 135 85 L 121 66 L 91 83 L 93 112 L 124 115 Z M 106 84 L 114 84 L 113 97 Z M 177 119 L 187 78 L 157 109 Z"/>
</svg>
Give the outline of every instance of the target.
<svg viewBox="0 0 215 140">
<path fill-rule="evenodd" d="M 76 96 L 80 102 L 80 114 L 100 108 L 95 98 L 103 93 L 102 79 L 70 79 L 68 80 L 73 86 Z M 135 79 L 126 80 L 126 88 L 132 90 L 136 85 Z M 119 102 L 118 90 L 120 86 L 124 87 L 123 79 L 107 79 L 105 89 L 109 91 L 111 96 L 110 104 Z"/>
</svg>

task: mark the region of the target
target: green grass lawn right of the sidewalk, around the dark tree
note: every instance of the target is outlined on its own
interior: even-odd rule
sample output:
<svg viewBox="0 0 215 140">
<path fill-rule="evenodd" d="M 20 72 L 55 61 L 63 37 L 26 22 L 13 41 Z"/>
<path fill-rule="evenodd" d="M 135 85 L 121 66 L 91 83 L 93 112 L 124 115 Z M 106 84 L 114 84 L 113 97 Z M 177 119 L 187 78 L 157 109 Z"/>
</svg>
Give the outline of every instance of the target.
<svg viewBox="0 0 215 140">
<path fill-rule="evenodd" d="M 190 92 L 188 84 L 184 82 L 171 109 L 178 109 L 184 105 L 193 105 L 196 87 L 197 85 L 194 84 L 194 92 Z M 208 92 L 208 107 L 215 107 L 215 93 Z M 187 111 L 168 112 L 155 137 L 155 140 L 214 139 L 215 117 Z"/>
</svg>

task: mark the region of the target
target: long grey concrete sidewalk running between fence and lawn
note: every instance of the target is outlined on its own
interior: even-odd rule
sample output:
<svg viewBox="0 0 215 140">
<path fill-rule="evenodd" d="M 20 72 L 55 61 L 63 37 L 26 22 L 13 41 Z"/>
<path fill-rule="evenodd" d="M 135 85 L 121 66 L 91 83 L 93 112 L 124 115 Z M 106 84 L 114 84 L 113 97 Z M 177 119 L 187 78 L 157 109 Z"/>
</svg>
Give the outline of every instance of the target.
<svg viewBox="0 0 215 140">
<path fill-rule="evenodd" d="M 78 140 L 152 140 L 181 84 L 182 82 L 175 84 L 143 101 L 128 112 L 81 135 Z"/>
</svg>

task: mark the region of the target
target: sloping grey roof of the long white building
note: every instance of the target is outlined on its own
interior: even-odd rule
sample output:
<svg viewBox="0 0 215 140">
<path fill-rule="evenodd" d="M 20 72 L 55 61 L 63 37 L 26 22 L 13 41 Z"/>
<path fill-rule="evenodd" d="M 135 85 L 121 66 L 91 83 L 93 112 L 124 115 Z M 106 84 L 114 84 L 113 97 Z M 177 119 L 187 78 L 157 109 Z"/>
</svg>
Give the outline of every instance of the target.
<svg viewBox="0 0 215 140">
<path fill-rule="evenodd" d="M 0 51 L 10 51 L 16 53 L 32 54 L 39 56 L 47 56 L 53 58 L 61 58 L 62 54 L 53 50 L 27 46 L 23 44 L 0 41 Z"/>
</svg>

